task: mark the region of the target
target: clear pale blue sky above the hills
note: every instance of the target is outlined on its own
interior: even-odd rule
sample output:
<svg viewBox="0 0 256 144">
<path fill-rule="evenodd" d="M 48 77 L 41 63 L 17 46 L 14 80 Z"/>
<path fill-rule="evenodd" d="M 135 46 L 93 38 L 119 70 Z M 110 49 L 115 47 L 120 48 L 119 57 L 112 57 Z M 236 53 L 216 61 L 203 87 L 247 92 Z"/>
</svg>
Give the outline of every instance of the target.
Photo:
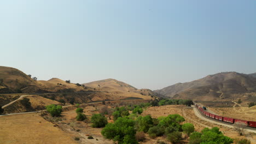
<svg viewBox="0 0 256 144">
<path fill-rule="evenodd" d="M 256 72 L 256 1 L 2 1 L 0 65 L 159 89 Z"/>
</svg>

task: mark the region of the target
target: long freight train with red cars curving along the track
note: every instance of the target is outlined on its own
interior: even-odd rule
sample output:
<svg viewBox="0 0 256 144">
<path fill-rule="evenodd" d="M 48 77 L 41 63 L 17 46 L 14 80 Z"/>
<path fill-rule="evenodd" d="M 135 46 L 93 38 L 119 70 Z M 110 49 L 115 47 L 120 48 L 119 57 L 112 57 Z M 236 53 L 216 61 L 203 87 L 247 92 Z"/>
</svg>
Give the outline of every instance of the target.
<svg viewBox="0 0 256 144">
<path fill-rule="evenodd" d="M 218 116 L 218 115 L 214 115 L 210 112 L 205 111 L 206 107 L 204 106 L 200 106 L 195 104 L 195 106 L 197 107 L 197 109 L 199 109 L 201 111 L 201 113 L 207 117 L 213 118 L 213 119 L 217 119 L 218 121 L 222 121 L 222 122 L 226 122 L 226 123 L 232 123 L 232 124 L 237 124 L 237 123 L 242 123 L 245 124 L 247 127 L 252 127 L 252 128 L 256 128 L 256 122 L 253 121 L 245 121 L 245 120 L 241 120 L 241 119 L 235 119 L 235 118 L 229 118 L 229 117 L 223 117 L 223 116 Z"/>
</svg>

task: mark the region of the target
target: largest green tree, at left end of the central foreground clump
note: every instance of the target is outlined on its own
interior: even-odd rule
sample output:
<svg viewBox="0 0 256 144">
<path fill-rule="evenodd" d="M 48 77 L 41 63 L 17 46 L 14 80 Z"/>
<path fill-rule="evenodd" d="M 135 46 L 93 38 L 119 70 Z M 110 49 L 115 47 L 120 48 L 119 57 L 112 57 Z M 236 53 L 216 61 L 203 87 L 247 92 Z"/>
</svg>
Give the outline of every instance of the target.
<svg viewBox="0 0 256 144">
<path fill-rule="evenodd" d="M 133 144 L 138 143 L 135 138 L 136 130 L 134 128 L 135 122 L 126 117 L 119 117 L 114 123 L 108 123 L 102 129 L 101 134 L 106 138 L 117 141 L 119 144 Z"/>
</svg>

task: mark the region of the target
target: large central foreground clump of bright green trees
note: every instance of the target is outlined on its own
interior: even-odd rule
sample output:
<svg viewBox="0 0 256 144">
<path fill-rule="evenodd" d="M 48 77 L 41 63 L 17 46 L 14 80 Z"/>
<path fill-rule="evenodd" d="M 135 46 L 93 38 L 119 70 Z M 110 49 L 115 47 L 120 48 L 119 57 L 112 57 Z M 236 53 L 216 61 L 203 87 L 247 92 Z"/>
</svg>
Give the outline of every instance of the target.
<svg viewBox="0 0 256 144">
<path fill-rule="evenodd" d="M 118 143 L 138 143 L 144 139 L 144 133 L 148 133 L 152 138 L 166 135 L 168 141 L 176 143 L 181 140 L 182 131 L 189 135 L 195 130 L 193 124 L 182 125 L 185 119 L 177 114 L 160 118 L 152 118 L 150 115 L 138 116 L 135 120 L 131 115 L 118 117 L 114 123 L 108 123 L 101 134 L 106 139 Z"/>
</svg>

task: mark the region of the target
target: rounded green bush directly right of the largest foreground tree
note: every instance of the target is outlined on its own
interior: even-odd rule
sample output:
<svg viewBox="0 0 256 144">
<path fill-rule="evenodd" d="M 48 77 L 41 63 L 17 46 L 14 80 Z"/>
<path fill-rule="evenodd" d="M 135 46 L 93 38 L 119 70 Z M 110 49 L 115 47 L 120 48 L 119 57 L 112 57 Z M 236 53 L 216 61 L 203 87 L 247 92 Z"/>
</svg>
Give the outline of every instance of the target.
<svg viewBox="0 0 256 144">
<path fill-rule="evenodd" d="M 144 133 L 147 133 L 150 127 L 153 127 L 153 118 L 149 115 L 144 117 L 139 116 L 135 121 L 135 129 L 137 131 L 144 131 Z"/>
</svg>

